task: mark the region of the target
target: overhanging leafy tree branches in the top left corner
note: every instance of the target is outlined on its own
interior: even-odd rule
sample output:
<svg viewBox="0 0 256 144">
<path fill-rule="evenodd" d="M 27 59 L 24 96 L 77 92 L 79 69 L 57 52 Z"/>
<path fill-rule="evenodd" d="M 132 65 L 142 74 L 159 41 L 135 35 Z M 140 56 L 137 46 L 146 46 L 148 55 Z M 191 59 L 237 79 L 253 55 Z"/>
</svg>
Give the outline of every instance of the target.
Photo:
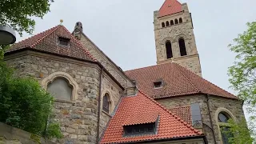
<svg viewBox="0 0 256 144">
<path fill-rule="evenodd" d="M 31 34 L 34 30 L 34 19 L 42 18 L 50 11 L 53 0 L 1 0 L 0 26 L 10 26 L 22 35 L 22 31 Z"/>
</svg>

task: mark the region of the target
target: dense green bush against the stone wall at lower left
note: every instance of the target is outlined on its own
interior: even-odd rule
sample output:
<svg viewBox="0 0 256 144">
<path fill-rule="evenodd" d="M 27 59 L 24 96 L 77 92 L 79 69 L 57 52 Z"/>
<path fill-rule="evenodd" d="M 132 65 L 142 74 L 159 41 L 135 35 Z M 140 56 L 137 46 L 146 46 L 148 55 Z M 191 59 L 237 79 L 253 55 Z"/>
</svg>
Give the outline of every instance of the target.
<svg viewBox="0 0 256 144">
<path fill-rule="evenodd" d="M 42 135 L 52 112 L 52 101 L 37 80 L 14 77 L 13 70 L 0 61 L 0 122 Z M 50 127 L 48 137 L 60 138 L 59 129 L 56 124 Z"/>
</svg>

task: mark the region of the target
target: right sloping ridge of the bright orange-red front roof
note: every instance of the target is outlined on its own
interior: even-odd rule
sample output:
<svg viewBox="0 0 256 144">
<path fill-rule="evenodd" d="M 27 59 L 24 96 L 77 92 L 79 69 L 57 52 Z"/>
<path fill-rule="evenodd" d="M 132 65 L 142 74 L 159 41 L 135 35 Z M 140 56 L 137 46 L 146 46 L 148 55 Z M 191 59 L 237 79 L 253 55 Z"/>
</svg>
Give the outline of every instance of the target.
<svg viewBox="0 0 256 144">
<path fill-rule="evenodd" d="M 167 113 L 171 114 L 175 119 L 177 119 L 178 121 L 182 122 L 182 124 L 184 124 L 184 126 L 186 126 L 187 128 L 189 128 L 190 130 L 193 130 L 195 133 L 197 134 L 202 134 L 199 130 L 194 129 L 193 126 L 191 126 L 188 122 L 185 122 L 184 120 L 182 120 L 182 118 L 178 117 L 176 114 L 173 114 L 170 110 L 166 109 L 165 107 L 163 107 L 161 104 L 159 104 L 158 102 L 156 102 L 153 98 L 150 98 L 149 96 L 146 95 L 146 93 L 144 93 L 142 90 L 138 90 L 141 94 L 143 94 L 144 96 L 146 96 L 146 98 L 149 98 L 151 102 L 154 102 L 156 105 L 158 105 L 159 107 L 161 107 L 163 110 L 166 110 Z"/>
</svg>

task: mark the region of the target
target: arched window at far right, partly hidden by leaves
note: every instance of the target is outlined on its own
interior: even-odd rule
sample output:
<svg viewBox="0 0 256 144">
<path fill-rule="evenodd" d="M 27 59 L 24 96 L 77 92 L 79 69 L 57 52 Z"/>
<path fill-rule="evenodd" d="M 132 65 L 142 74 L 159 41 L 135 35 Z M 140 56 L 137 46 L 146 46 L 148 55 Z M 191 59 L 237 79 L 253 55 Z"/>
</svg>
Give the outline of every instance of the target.
<svg viewBox="0 0 256 144">
<path fill-rule="evenodd" d="M 230 144 L 229 138 L 234 137 L 233 134 L 228 133 L 230 127 L 227 122 L 230 118 L 230 114 L 227 114 L 226 112 L 220 112 L 218 114 L 218 126 L 220 126 L 223 144 Z"/>
</svg>

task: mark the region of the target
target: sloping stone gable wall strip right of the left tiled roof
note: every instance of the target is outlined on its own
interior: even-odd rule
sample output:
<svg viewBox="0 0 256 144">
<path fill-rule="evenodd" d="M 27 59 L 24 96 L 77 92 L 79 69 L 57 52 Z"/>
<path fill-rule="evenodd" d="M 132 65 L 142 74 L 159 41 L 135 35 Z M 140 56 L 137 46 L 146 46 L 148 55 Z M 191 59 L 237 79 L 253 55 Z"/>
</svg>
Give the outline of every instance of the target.
<svg viewBox="0 0 256 144">
<path fill-rule="evenodd" d="M 90 54 L 92 54 L 98 62 L 101 62 L 102 66 L 104 66 L 123 87 L 126 88 L 134 85 L 130 79 L 126 77 L 121 68 L 116 66 L 114 62 L 112 62 L 110 58 L 102 52 L 102 50 L 100 50 L 93 42 L 90 41 L 89 38 L 86 37 L 86 35 L 81 34 L 80 42 L 82 42 L 82 45 L 90 51 Z"/>
</svg>

